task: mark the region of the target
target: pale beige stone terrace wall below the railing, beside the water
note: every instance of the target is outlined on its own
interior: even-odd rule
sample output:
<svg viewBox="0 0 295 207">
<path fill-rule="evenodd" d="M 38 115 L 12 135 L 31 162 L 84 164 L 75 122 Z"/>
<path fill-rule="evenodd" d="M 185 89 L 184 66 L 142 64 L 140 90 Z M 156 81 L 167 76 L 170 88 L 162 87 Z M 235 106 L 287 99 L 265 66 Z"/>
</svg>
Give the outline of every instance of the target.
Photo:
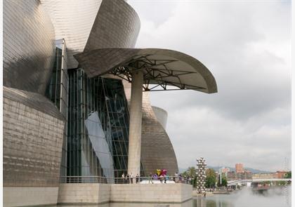
<svg viewBox="0 0 295 207">
<path fill-rule="evenodd" d="M 107 202 L 183 203 L 192 199 L 192 185 L 176 184 L 60 184 L 59 204 Z"/>
</svg>

